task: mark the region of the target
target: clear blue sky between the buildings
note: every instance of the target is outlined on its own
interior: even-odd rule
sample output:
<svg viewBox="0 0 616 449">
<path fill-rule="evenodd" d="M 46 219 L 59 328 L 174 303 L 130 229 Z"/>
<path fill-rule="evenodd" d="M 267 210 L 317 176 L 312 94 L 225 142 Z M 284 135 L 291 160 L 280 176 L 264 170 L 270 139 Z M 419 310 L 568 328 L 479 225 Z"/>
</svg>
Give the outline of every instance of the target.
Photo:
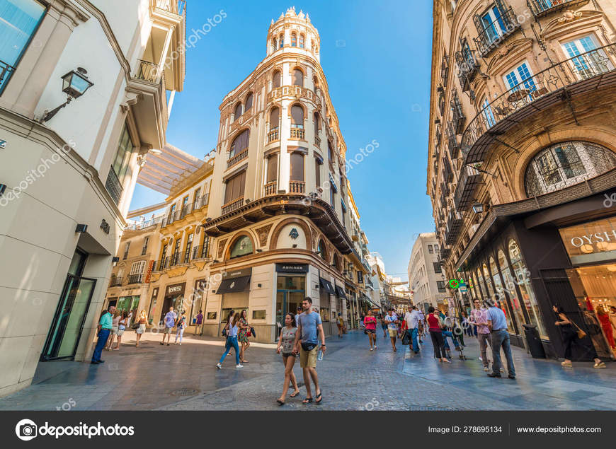
<svg viewBox="0 0 616 449">
<path fill-rule="evenodd" d="M 290 6 L 309 13 L 347 159 L 379 143 L 348 173 L 370 250 L 380 252 L 389 274 L 406 279 L 414 237 L 434 230 L 426 195 L 432 2 L 187 3 L 187 36 L 221 10 L 227 17 L 186 52 L 186 82 L 176 93 L 167 141 L 203 158 L 216 145 L 222 98 L 266 56 L 271 19 Z M 131 209 L 163 200 L 137 185 Z"/>
</svg>

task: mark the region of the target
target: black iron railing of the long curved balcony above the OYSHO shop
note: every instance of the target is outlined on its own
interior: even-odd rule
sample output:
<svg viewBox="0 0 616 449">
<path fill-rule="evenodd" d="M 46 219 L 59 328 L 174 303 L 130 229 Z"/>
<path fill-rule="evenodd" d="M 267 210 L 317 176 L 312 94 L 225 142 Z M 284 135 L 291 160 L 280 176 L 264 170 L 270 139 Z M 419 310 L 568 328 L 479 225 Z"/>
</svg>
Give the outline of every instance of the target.
<svg viewBox="0 0 616 449">
<path fill-rule="evenodd" d="M 498 95 L 479 111 L 464 130 L 461 144 L 464 155 L 489 129 L 544 95 L 561 91 L 578 81 L 613 71 L 615 66 L 612 59 L 616 57 L 615 50 L 616 44 L 610 44 L 578 54 L 530 76 Z M 609 54 L 612 54 L 612 59 Z"/>
</svg>

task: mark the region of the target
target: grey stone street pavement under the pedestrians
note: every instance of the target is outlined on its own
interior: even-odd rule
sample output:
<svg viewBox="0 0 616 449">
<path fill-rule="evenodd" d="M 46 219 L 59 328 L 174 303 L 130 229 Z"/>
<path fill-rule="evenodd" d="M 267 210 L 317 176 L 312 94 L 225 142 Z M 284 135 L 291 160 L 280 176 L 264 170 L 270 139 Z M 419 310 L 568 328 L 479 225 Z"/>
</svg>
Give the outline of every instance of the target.
<svg viewBox="0 0 616 449">
<path fill-rule="evenodd" d="M 105 363 L 40 363 L 35 383 L 0 399 L 0 410 L 278 410 L 275 399 L 283 383 L 283 364 L 274 345 L 253 344 L 249 363 L 236 369 L 222 354 L 220 339 L 188 337 L 182 346 L 160 346 L 147 334 L 142 347 L 104 351 Z M 343 339 L 328 338 L 328 351 L 317 362 L 323 391 L 321 405 L 301 404 L 305 390 L 287 397 L 293 410 L 518 410 L 616 409 L 616 363 L 595 370 L 591 363 L 561 368 L 534 360 L 514 349 L 517 380 L 491 379 L 477 360 L 475 339 L 466 338 L 467 360 L 438 363 L 428 339 L 420 354 L 378 334 L 378 348 L 368 350 L 367 337 L 353 331 Z M 295 375 L 303 384 L 299 363 Z"/>
</svg>

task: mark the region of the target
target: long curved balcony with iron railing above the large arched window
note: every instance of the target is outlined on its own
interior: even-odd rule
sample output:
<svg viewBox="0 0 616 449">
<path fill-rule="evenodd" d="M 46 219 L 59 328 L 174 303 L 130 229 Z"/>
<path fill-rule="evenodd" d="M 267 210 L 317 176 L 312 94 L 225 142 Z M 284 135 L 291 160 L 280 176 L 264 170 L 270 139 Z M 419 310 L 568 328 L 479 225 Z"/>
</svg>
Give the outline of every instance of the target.
<svg viewBox="0 0 616 449">
<path fill-rule="evenodd" d="M 479 110 L 464 130 L 460 148 L 465 163 L 484 161 L 498 136 L 532 116 L 576 95 L 614 86 L 616 44 L 565 59 L 526 78 Z"/>
</svg>

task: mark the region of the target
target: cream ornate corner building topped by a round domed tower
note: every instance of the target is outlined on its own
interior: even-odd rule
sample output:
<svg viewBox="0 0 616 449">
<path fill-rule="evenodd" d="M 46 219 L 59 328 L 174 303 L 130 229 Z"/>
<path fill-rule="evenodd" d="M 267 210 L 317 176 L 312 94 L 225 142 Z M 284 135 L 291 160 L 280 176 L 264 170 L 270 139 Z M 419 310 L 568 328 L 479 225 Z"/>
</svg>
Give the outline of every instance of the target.
<svg viewBox="0 0 616 449">
<path fill-rule="evenodd" d="M 291 8 L 272 21 L 266 58 L 220 105 L 205 234 L 211 248 L 204 332 L 219 335 L 229 310 L 248 309 L 271 342 L 287 312 L 309 296 L 326 334 L 338 313 L 356 320 L 365 273 L 350 233 L 346 145 L 319 64 L 309 16 Z"/>
</svg>

